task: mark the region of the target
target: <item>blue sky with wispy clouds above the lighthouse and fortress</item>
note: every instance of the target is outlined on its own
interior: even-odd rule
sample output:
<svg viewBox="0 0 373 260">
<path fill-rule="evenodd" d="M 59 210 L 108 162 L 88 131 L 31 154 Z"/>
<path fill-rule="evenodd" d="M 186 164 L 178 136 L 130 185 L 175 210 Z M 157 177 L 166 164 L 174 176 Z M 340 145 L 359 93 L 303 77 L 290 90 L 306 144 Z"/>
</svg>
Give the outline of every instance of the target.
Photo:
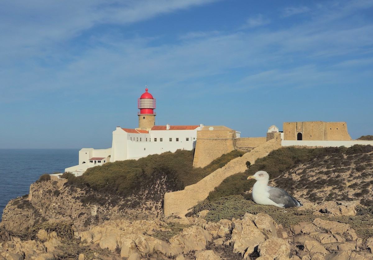
<svg viewBox="0 0 373 260">
<path fill-rule="evenodd" d="M 373 134 L 372 0 L 13 0 L 0 35 L 0 148 L 109 148 L 145 85 L 158 125 Z"/>
</svg>

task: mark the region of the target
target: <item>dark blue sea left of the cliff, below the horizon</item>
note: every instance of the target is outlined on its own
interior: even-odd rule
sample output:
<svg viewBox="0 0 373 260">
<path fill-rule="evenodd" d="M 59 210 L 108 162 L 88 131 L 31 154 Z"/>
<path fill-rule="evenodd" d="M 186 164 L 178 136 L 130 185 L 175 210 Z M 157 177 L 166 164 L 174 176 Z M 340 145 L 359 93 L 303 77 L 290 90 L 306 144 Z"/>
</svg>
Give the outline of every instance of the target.
<svg viewBox="0 0 373 260">
<path fill-rule="evenodd" d="M 0 222 L 9 200 L 28 194 L 41 175 L 65 172 L 78 160 L 79 149 L 0 149 Z"/>
</svg>

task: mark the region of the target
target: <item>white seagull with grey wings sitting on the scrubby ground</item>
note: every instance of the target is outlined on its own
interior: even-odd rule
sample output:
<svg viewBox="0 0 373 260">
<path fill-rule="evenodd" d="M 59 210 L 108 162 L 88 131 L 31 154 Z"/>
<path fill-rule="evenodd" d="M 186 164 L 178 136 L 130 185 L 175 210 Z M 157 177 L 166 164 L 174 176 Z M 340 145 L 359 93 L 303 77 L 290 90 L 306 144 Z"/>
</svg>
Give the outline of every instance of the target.
<svg viewBox="0 0 373 260">
<path fill-rule="evenodd" d="M 269 175 L 266 171 L 258 171 L 254 175 L 247 177 L 248 180 L 255 179 L 253 186 L 253 200 L 261 205 L 273 205 L 276 207 L 300 207 L 303 206 L 289 193 L 281 188 L 268 186 Z"/>
</svg>

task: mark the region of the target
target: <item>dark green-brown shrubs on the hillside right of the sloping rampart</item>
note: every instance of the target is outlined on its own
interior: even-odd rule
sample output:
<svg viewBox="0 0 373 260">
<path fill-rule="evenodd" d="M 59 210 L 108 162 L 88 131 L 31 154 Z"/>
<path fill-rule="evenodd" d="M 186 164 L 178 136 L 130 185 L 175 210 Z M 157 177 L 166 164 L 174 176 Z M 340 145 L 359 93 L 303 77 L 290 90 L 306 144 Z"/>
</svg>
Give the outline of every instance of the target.
<svg viewBox="0 0 373 260">
<path fill-rule="evenodd" d="M 307 189 L 317 189 L 330 184 L 340 189 L 344 186 L 344 183 L 333 178 L 332 172 L 344 173 L 349 171 L 350 167 L 345 167 L 344 165 L 351 165 L 351 161 L 355 160 L 357 158 L 356 156 L 359 156 L 358 158 L 363 162 L 369 161 L 369 159 L 372 158 L 369 154 L 361 154 L 371 151 L 373 151 L 373 146 L 370 145 L 354 145 L 350 148 L 341 146 L 314 149 L 297 148 L 294 146 L 282 147 L 273 150 L 266 157 L 257 159 L 255 164 L 250 165 L 250 168 L 245 172 L 231 175 L 223 180 L 214 191 L 210 192 L 208 199 L 214 201 L 224 196 L 244 194 L 244 192 L 250 190 L 255 183 L 253 180 L 247 180 L 247 177 L 253 175 L 257 171 L 267 171 L 270 179 L 273 179 L 279 177 L 286 171 L 291 171 L 291 169 L 296 168 L 300 164 L 306 164 L 307 167 L 305 167 L 303 171 L 297 173 L 297 175 L 301 176 L 298 182 L 294 182 L 292 178 L 281 177 L 276 180 L 276 184 L 288 191 L 294 190 L 294 188 L 296 188 L 295 185 Z M 345 155 L 347 155 L 347 158 L 345 158 Z M 311 181 L 304 175 L 307 174 L 308 170 L 320 167 L 326 167 L 328 169 L 325 172 L 320 172 L 320 175 L 323 177 Z M 366 166 L 358 165 L 355 169 L 361 172 L 366 169 Z M 360 176 L 356 178 L 361 178 L 365 175 L 368 175 L 368 173 L 362 172 Z M 311 193 L 309 195 L 309 199 L 320 199 L 316 193 Z"/>
</svg>

